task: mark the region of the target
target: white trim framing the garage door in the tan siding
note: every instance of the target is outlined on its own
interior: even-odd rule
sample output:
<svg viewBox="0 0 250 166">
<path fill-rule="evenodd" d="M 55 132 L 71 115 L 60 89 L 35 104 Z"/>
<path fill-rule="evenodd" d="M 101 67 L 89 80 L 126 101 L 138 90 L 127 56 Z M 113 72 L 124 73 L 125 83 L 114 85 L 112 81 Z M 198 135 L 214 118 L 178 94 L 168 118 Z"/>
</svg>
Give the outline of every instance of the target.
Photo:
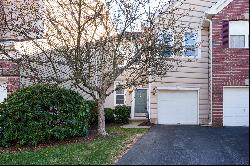
<svg viewBox="0 0 250 166">
<path fill-rule="evenodd" d="M 161 90 L 180 90 L 180 91 L 197 91 L 197 124 L 200 124 L 200 88 L 188 88 L 188 87 L 157 87 L 157 94 L 159 93 L 159 91 Z M 158 95 L 159 96 L 159 95 Z M 158 99 L 157 99 L 157 105 L 158 105 Z M 157 110 L 158 112 L 158 110 Z M 158 121 L 158 113 L 157 113 L 157 121 Z"/>
</svg>

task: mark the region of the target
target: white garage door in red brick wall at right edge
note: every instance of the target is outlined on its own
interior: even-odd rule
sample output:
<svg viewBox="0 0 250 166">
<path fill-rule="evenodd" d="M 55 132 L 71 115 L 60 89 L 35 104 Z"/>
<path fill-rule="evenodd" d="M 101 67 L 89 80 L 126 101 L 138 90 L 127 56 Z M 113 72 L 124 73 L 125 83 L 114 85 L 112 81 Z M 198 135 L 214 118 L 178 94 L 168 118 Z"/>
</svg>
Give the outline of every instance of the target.
<svg viewBox="0 0 250 166">
<path fill-rule="evenodd" d="M 249 88 L 224 88 L 223 125 L 249 126 Z"/>
</svg>

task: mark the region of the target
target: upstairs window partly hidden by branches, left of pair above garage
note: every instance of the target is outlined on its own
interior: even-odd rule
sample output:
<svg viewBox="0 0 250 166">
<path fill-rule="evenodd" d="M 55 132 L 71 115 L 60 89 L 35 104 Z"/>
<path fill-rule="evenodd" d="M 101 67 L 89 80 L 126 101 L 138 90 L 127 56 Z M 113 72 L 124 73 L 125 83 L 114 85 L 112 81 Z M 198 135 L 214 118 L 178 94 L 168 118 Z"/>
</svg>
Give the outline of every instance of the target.
<svg viewBox="0 0 250 166">
<path fill-rule="evenodd" d="M 159 33 L 159 49 L 162 56 L 170 57 L 174 54 L 174 35 L 170 31 L 161 31 Z"/>
</svg>

